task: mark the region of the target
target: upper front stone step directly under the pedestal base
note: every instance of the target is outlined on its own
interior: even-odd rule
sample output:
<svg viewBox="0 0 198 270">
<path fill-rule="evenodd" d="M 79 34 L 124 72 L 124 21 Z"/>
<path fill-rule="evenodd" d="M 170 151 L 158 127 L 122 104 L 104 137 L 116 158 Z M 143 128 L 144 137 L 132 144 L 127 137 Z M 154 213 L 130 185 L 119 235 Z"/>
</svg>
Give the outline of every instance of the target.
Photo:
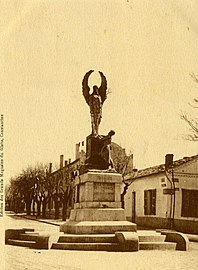
<svg viewBox="0 0 198 270">
<path fill-rule="evenodd" d="M 114 234 L 76 235 L 65 234 L 59 237 L 58 243 L 115 243 Z"/>
</svg>

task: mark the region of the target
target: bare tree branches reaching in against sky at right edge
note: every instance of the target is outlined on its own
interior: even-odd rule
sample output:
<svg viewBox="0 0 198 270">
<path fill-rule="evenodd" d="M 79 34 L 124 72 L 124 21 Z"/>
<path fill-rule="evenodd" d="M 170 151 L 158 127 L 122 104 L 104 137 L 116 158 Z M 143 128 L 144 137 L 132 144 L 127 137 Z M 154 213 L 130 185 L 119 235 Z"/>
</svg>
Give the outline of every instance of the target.
<svg viewBox="0 0 198 270">
<path fill-rule="evenodd" d="M 198 83 L 198 78 L 194 73 L 190 75 L 193 80 Z M 194 109 L 198 109 L 198 99 L 193 100 L 193 104 L 190 104 Z M 184 120 L 188 126 L 190 127 L 190 134 L 186 136 L 187 140 L 190 141 L 198 141 L 198 118 L 195 116 L 194 118 L 190 117 L 187 113 L 183 112 L 181 115 L 181 119 Z"/>
</svg>

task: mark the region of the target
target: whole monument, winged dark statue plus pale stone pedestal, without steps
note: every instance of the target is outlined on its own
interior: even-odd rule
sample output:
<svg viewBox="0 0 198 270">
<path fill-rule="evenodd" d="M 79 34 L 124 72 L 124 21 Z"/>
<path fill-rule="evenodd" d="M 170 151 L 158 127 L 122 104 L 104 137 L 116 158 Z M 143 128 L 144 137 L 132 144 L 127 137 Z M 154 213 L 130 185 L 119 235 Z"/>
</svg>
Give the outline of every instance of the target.
<svg viewBox="0 0 198 270">
<path fill-rule="evenodd" d="M 136 224 L 126 221 L 121 208 L 122 176 L 117 173 L 111 158 L 111 130 L 99 134 L 102 106 L 107 98 L 107 80 L 102 72 L 100 87 L 94 85 L 90 94 L 88 71 L 82 81 L 83 96 L 90 107 L 91 134 L 86 139 L 86 161 L 74 180 L 75 203 L 69 221 L 60 231 L 67 234 L 115 234 L 136 232 Z"/>
</svg>

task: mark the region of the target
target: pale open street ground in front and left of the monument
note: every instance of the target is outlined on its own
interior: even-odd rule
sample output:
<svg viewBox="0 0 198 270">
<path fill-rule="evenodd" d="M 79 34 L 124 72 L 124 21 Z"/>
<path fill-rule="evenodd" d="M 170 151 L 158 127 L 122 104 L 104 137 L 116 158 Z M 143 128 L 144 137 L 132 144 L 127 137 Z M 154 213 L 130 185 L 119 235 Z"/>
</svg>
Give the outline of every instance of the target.
<svg viewBox="0 0 198 270">
<path fill-rule="evenodd" d="M 22 219 L 4 217 L 5 228 L 34 228 L 50 233 L 55 239 L 58 226 Z M 139 251 L 94 252 L 34 250 L 16 246 L 4 246 L 5 270 L 106 270 L 106 269 L 198 269 L 198 243 L 191 243 L 188 252 Z M 1 257 L 2 258 L 2 257 Z M 3 261 L 2 261 L 3 262 Z"/>
</svg>

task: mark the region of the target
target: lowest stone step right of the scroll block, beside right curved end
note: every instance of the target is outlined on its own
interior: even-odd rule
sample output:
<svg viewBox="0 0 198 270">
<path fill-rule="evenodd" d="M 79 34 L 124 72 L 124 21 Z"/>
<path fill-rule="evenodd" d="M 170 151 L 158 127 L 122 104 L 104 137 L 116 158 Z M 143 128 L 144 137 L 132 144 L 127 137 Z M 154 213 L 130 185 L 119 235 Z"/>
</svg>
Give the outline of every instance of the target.
<svg viewBox="0 0 198 270">
<path fill-rule="evenodd" d="M 176 243 L 170 242 L 139 242 L 140 250 L 176 250 Z"/>
</svg>

